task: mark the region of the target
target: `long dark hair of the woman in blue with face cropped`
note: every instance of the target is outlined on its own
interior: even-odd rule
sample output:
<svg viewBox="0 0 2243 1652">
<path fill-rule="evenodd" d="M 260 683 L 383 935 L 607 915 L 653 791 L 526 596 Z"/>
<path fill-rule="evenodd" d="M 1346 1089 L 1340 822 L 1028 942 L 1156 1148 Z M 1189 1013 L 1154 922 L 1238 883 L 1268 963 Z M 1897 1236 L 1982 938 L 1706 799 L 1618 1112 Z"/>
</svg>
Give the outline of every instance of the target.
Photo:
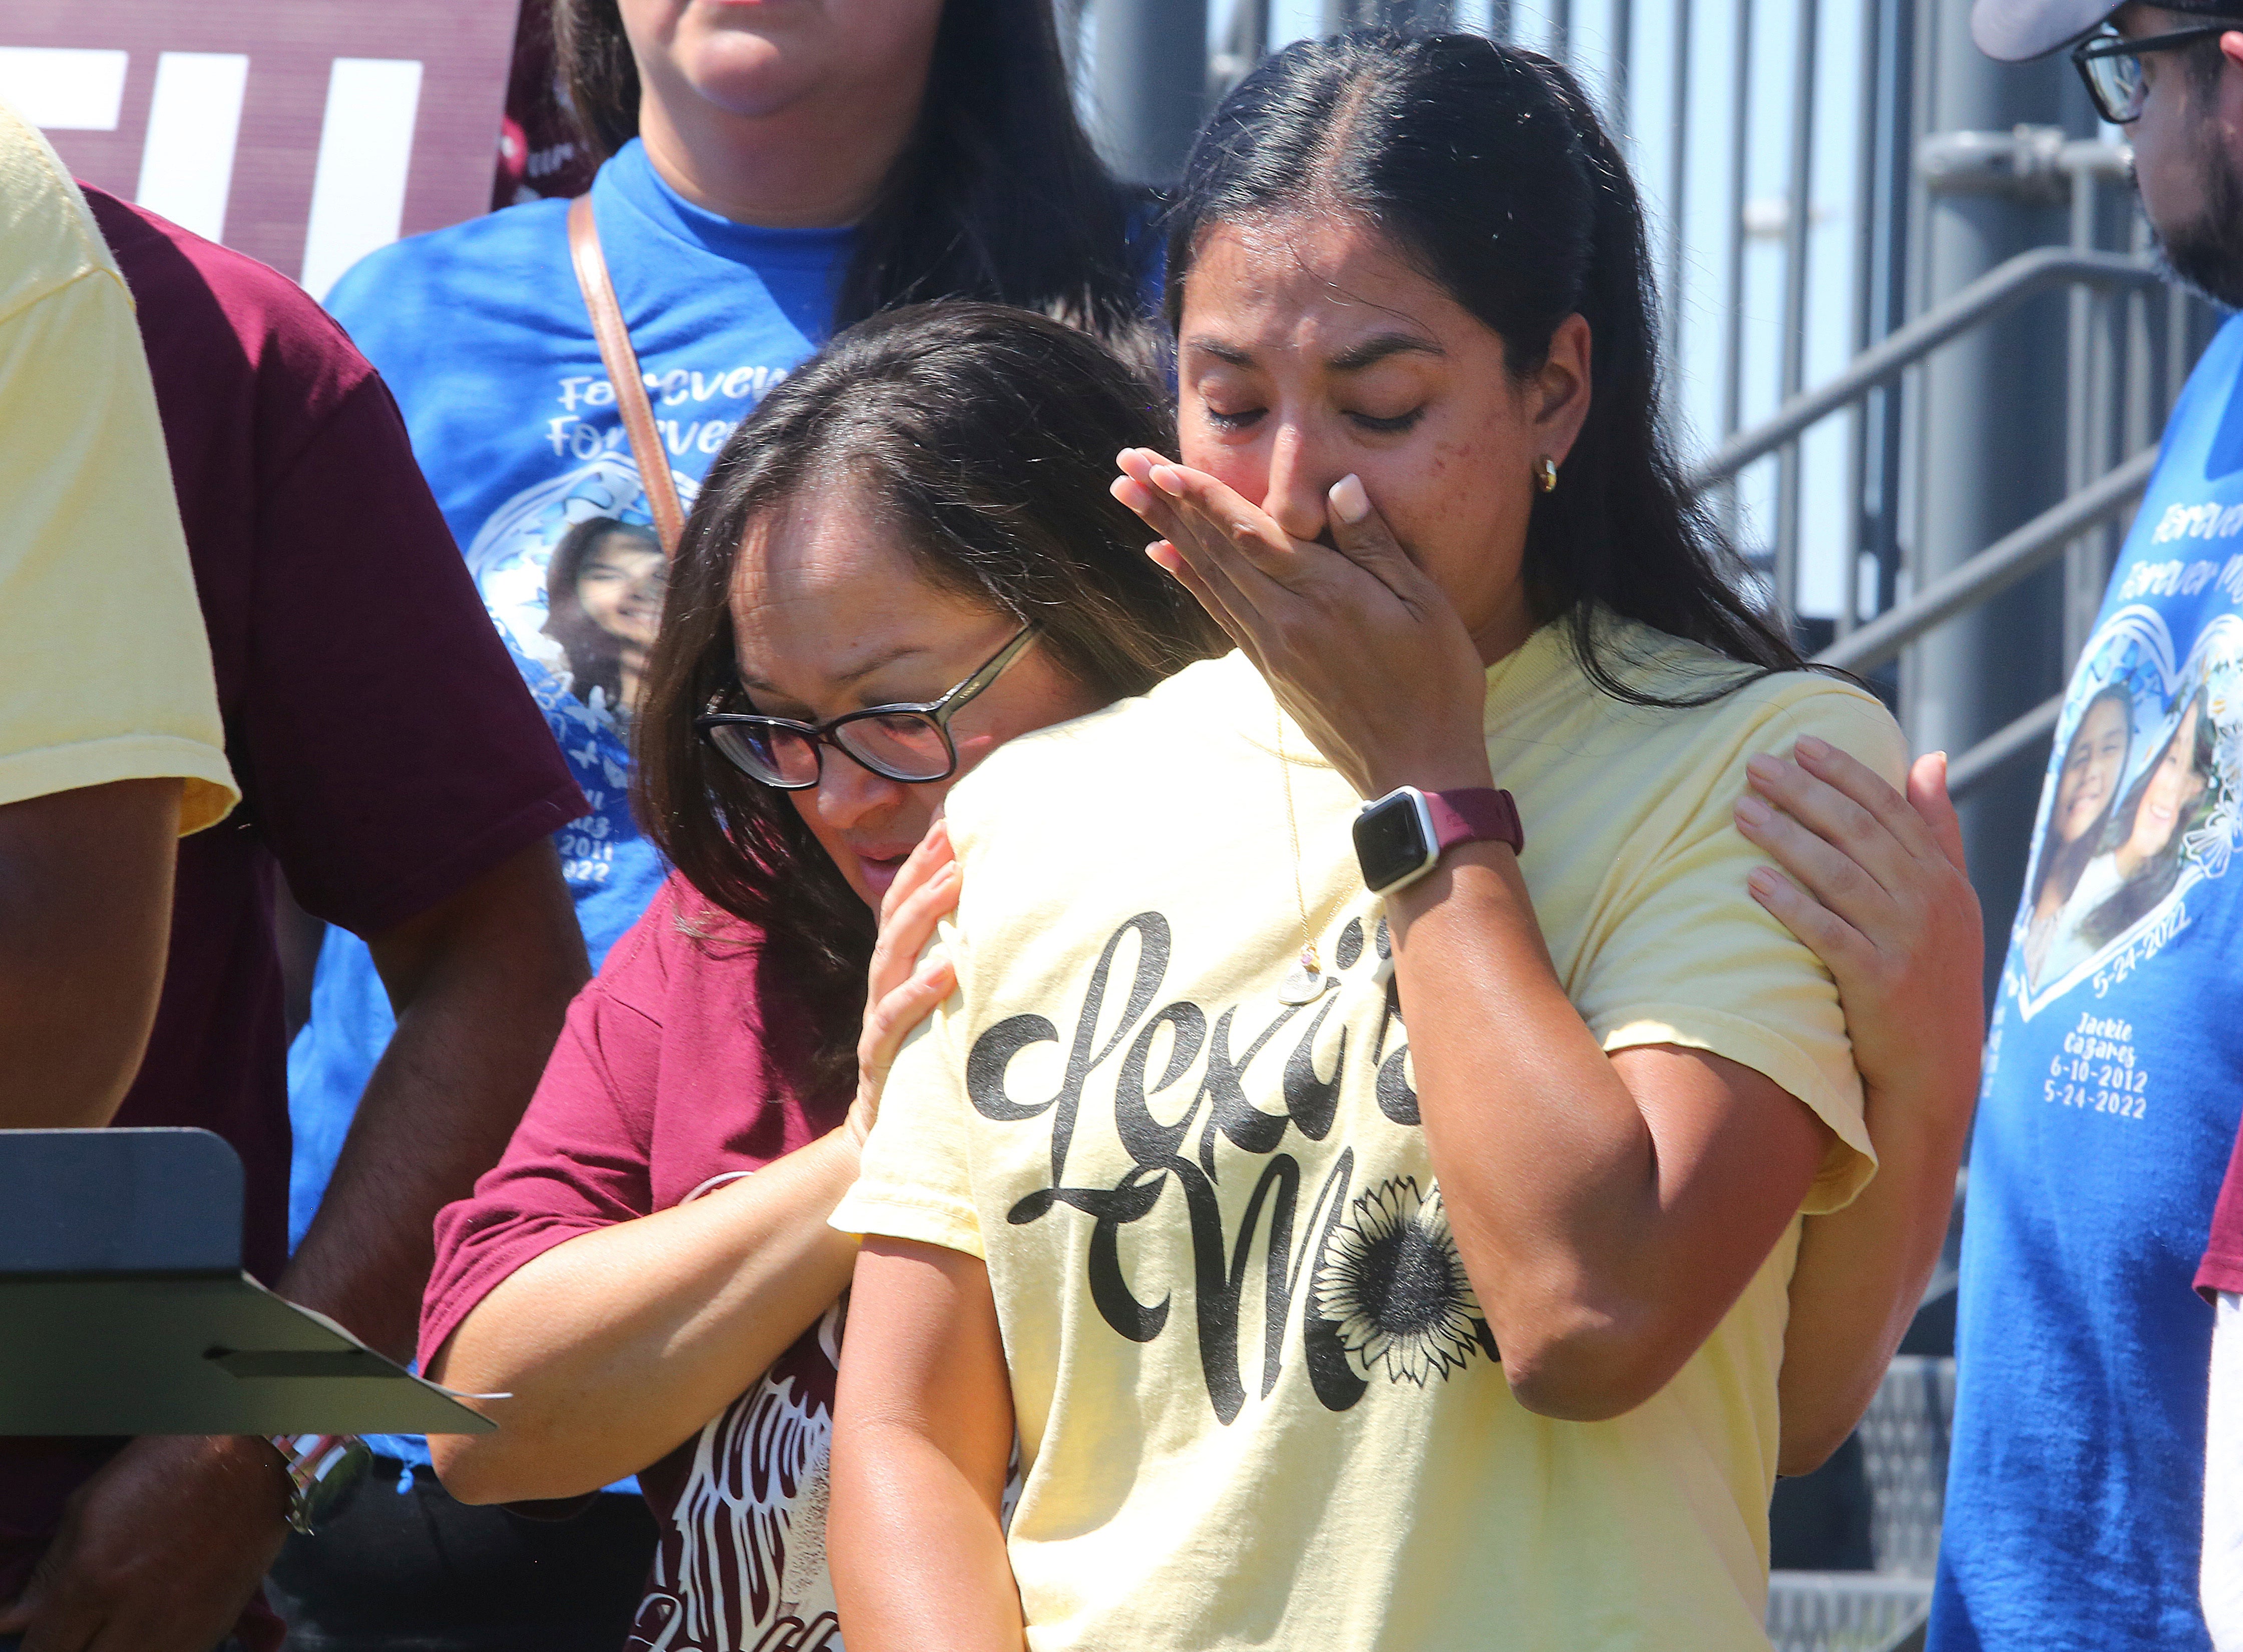
<svg viewBox="0 0 2243 1652">
<path fill-rule="evenodd" d="M 554 54 L 592 152 L 624 148 L 639 69 L 617 0 L 556 0 Z M 982 298 L 1135 343 L 1151 276 L 1130 251 L 1137 211 L 1074 117 L 1050 0 L 947 0 L 917 130 L 857 224 L 834 327 Z"/>
</svg>

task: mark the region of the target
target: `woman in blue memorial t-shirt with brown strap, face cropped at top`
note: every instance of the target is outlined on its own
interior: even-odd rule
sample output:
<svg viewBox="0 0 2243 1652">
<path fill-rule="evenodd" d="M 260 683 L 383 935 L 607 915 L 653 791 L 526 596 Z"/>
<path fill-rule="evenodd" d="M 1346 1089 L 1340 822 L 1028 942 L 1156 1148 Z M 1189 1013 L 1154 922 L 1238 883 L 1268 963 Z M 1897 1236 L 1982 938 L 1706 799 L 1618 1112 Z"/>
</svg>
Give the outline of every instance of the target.
<svg viewBox="0 0 2243 1652">
<path fill-rule="evenodd" d="M 989 298 L 1133 343 L 1153 280 L 1133 244 L 1142 213 L 1077 123 L 1050 0 L 563 0 L 554 47 L 606 157 L 592 213 L 686 504 L 765 390 L 888 305 Z M 559 852 L 597 966 L 662 867 L 628 807 L 630 639 L 563 612 L 583 610 L 581 578 L 556 607 L 550 574 L 572 531 L 603 520 L 601 542 L 617 545 L 619 529 L 646 531 L 650 509 L 565 217 L 565 202 L 532 202 L 397 242 L 345 273 L 327 307 L 397 395 L 469 574 L 592 805 Z M 330 930 L 289 1051 L 294 1240 L 393 1027 L 366 944 Z M 576 1547 L 606 1556 L 594 1565 L 567 1549 L 585 1524 L 556 1533 L 462 1509 L 433 1475 L 415 1482 L 422 1441 L 375 1446 L 384 1495 L 359 1497 L 276 1571 L 298 1634 L 464 1650 L 534 1627 L 556 1652 L 617 1645 L 653 1542 L 635 1497 L 601 1500 L 592 1520 L 610 1538 Z"/>
</svg>

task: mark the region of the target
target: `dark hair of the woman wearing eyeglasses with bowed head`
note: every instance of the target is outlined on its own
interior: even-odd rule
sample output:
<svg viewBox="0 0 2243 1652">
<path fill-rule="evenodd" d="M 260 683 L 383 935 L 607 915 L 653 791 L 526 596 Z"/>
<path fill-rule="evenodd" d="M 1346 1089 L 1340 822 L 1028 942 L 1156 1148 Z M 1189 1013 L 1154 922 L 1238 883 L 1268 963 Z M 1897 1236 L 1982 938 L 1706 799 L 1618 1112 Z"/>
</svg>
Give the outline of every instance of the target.
<svg viewBox="0 0 2243 1652">
<path fill-rule="evenodd" d="M 1039 623 L 1047 659 L 1099 702 L 1139 695 L 1227 648 L 1108 493 L 1119 448 L 1166 451 L 1171 433 L 1162 386 L 1088 334 L 917 305 L 796 368 L 702 482 L 646 661 L 633 802 L 695 890 L 763 930 L 819 1020 L 821 1076 L 855 1071 L 873 915 L 794 805 L 693 735 L 704 706 L 738 704 L 729 594 L 749 527 L 855 484 L 931 583 Z"/>
</svg>

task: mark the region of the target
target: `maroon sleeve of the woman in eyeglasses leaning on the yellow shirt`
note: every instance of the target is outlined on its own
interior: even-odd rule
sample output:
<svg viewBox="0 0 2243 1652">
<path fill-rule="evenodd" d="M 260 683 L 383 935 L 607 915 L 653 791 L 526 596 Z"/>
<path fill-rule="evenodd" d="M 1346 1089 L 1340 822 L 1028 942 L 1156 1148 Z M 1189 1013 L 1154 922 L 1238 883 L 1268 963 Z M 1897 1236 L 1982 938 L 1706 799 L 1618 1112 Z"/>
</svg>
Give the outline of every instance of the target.
<svg viewBox="0 0 2243 1652">
<path fill-rule="evenodd" d="M 491 1289 L 563 1240 L 655 1208 L 650 1154 L 662 1087 L 668 888 L 570 1004 L 505 1157 L 435 1219 L 422 1298 L 422 1365 Z"/>
</svg>

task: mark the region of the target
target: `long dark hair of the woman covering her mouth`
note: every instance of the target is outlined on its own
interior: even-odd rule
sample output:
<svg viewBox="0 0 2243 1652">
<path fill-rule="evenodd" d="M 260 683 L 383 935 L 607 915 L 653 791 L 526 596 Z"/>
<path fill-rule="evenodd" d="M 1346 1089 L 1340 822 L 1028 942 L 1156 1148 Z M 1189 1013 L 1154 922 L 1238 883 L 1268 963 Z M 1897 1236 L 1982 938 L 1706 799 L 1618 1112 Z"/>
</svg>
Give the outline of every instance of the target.
<svg viewBox="0 0 2243 1652">
<path fill-rule="evenodd" d="M 1566 316 L 1588 321 L 1590 403 L 1554 493 L 1534 498 L 1525 578 L 1566 619 L 1604 693 L 1693 706 L 1806 661 L 1741 596 L 1734 554 L 1682 491 L 1660 419 L 1644 215 L 1579 83 L 1550 58 L 1469 34 L 1357 29 L 1299 40 L 1222 99 L 1169 217 L 1169 323 L 1204 231 L 1335 211 L 1373 224 L 1501 334 L 1514 374 L 1543 365 Z M 1750 670 L 1653 695 L 1619 675 L 1599 607 Z"/>
</svg>

